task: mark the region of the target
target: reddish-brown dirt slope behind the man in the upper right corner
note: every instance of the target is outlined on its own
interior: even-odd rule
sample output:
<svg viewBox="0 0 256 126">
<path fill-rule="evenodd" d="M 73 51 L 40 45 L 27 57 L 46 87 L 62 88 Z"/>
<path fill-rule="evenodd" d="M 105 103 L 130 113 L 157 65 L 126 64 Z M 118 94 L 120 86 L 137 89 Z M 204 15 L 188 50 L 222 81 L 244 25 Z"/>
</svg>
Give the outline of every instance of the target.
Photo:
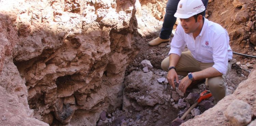
<svg viewBox="0 0 256 126">
<path fill-rule="evenodd" d="M 231 45 L 240 45 L 248 51 L 251 50 L 250 44 L 255 45 L 253 39 L 256 30 L 255 5 L 252 0 L 213 0 L 208 3 L 207 12 L 210 15 L 208 19 L 227 29 Z"/>
</svg>

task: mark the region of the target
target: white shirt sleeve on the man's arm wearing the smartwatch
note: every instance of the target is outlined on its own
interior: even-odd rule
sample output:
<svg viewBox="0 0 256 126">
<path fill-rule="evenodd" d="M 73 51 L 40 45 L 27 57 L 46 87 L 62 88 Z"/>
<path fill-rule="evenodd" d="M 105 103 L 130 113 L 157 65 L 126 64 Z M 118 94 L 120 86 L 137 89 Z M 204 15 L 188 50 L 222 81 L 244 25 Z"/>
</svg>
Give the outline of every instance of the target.
<svg viewBox="0 0 256 126">
<path fill-rule="evenodd" d="M 229 43 L 226 42 L 229 41 L 229 39 L 227 39 L 225 33 L 216 36 L 216 40 L 213 44 L 213 67 L 225 75 L 228 68 L 228 46 L 223 43 Z"/>
</svg>

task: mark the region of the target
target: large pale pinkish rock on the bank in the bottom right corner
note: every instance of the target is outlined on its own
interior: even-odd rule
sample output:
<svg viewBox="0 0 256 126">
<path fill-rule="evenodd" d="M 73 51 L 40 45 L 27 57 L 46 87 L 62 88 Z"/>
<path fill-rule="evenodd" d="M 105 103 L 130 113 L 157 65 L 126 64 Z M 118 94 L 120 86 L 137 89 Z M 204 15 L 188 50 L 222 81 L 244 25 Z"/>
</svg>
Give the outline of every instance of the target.
<svg viewBox="0 0 256 126">
<path fill-rule="evenodd" d="M 251 106 L 242 100 L 233 100 L 224 112 L 232 126 L 245 126 L 252 120 Z"/>
</svg>

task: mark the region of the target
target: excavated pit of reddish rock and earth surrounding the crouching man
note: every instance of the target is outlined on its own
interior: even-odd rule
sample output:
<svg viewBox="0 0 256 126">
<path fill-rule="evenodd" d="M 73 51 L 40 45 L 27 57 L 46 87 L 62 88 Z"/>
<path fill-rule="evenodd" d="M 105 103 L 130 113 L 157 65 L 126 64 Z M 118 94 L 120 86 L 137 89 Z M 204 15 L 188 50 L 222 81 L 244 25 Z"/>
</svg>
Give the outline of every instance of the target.
<svg viewBox="0 0 256 126">
<path fill-rule="evenodd" d="M 160 63 L 170 42 L 155 47 L 147 42 L 160 32 L 166 2 L 0 1 L 6 5 L 0 11 L 0 124 L 172 125 L 207 88 L 200 83 L 182 96 L 159 80 L 167 75 Z M 209 0 L 207 18 L 228 30 L 233 51 L 256 56 L 255 4 Z M 243 98 L 256 89 L 250 74 L 255 73 L 255 59 L 233 58 L 226 78 L 228 96 L 214 109 L 212 97 L 203 100 L 185 121 L 230 125 L 219 111 L 236 98 L 251 106 L 250 122 L 255 120 L 255 95 Z M 143 72 L 144 60 L 153 66 L 148 72 Z M 217 114 L 209 119 L 204 111 Z"/>
</svg>

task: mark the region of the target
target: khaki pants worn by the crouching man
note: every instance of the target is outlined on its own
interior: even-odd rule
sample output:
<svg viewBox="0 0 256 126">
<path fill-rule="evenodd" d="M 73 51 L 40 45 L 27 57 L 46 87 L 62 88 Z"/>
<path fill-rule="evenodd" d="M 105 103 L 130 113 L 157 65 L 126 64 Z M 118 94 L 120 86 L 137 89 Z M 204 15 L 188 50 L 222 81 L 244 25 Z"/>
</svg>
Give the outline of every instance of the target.
<svg viewBox="0 0 256 126">
<path fill-rule="evenodd" d="M 168 72 L 169 59 L 170 58 L 167 57 L 161 63 L 162 69 L 165 70 L 166 72 Z M 175 68 L 177 70 L 178 75 L 185 77 L 189 72 L 198 72 L 203 69 L 212 67 L 213 65 L 214 63 L 202 63 L 197 61 L 191 55 L 190 51 L 186 51 L 181 53 L 181 57 L 179 59 L 179 62 L 175 66 Z M 231 69 L 231 63 L 229 62 L 226 75 L 229 73 L 230 69 Z M 225 84 L 226 75 L 206 78 L 205 85 L 211 91 L 215 100 L 214 102 L 215 104 L 226 96 L 226 84 Z"/>
</svg>

